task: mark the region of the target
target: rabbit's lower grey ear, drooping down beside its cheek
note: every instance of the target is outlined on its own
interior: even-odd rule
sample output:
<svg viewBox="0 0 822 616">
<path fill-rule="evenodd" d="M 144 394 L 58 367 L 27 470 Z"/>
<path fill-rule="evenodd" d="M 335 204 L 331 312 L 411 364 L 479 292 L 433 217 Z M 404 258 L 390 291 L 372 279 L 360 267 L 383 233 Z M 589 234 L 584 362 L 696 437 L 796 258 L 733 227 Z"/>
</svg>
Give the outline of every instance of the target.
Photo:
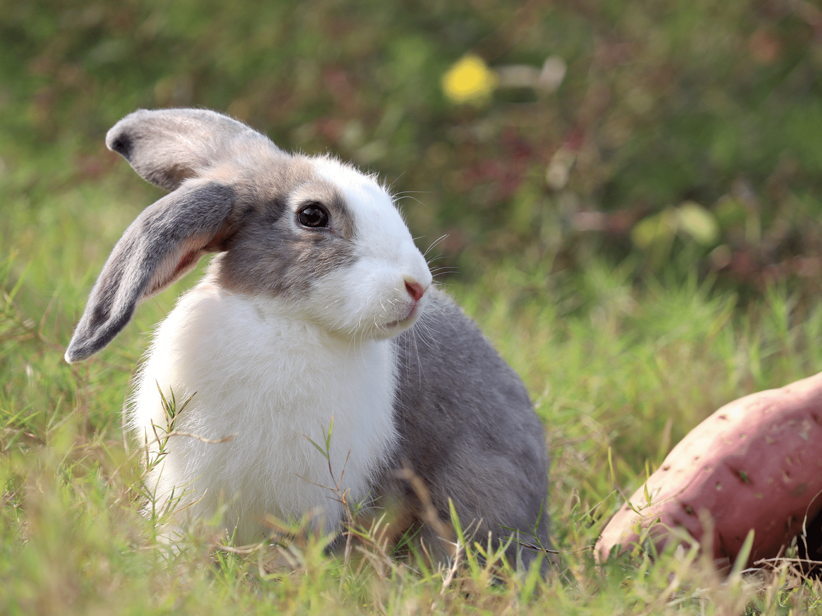
<svg viewBox="0 0 822 616">
<path fill-rule="evenodd" d="M 126 326 L 139 301 L 189 272 L 205 253 L 224 251 L 238 226 L 235 200 L 231 186 L 189 180 L 143 210 L 103 266 L 66 361 L 94 355 Z"/>
</svg>

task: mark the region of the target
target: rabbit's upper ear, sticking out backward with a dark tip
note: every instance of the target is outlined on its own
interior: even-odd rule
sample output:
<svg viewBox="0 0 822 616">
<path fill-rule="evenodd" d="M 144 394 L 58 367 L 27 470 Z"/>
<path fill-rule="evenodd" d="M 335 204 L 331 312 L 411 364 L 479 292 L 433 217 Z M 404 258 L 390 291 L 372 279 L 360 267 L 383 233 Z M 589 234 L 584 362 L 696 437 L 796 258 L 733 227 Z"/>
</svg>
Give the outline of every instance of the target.
<svg viewBox="0 0 822 616">
<path fill-rule="evenodd" d="M 139 109 L 112 126 L 105 145 L 169 191 L 249 149 L 279 152 L 268 137 L 207 109 Z"/>
</svg>

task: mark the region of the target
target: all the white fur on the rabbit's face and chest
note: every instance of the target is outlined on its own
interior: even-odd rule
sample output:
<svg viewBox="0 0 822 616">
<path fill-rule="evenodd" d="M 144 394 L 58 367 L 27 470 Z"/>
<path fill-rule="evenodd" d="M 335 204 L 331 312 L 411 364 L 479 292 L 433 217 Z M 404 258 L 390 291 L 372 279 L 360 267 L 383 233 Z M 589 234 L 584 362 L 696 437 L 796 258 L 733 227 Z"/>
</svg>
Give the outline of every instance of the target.
<svg viewBox="0 0 822 616">
<path fill-rule="evenodd" d="M 152 424 L 166 425 L 159 384 L 178 407 L 193 394 L 175 431 L 205 439 L 236 434 L 220 444 L 171 437 L 150 487 L 160 503 L 184 490 L 192 518 L 223 511 L 226 530 L 240 543 L 266 535 L 266 514 L 316 513 L 333 530 L 339 494 L 321 486 L 334 486 L 343 470 L 340 489 L 352 501 L 367 497 L 396 439 L 396 358 L 388 338 L 410 327 L 426 301 L 414 302 L 405 282 L 431 283 L 386 191 L 333 160 L 316 165 L 353 212 L 356 261 L 318 278 L 295 301 L 225 290 L 216 283 L 216 257 L 159 326 L 129 411 L 138 434 L 154 439 Z M 333 477 L 308 440 L 322 445 L 332 418 Z"/>
</svg>

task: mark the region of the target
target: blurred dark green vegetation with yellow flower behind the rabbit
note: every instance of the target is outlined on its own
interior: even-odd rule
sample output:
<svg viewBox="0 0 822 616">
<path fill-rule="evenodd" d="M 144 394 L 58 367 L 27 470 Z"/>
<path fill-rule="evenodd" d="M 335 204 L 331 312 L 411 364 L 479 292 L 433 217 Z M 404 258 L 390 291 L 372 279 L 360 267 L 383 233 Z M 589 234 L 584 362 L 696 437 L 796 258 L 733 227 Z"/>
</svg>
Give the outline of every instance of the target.
<svg viewBox="0 0 822 616">
<path fill-rule="evenodd" d="M 201 106 L 379 172 L 423 247 L 447 234 L 446 269 L 598 254 L 743 291 L 820 280 L 815 3 L 0 0 L 0 15 L 3 209 L 112 174 L 159 194 L 105 131 Z"/>
</svg>

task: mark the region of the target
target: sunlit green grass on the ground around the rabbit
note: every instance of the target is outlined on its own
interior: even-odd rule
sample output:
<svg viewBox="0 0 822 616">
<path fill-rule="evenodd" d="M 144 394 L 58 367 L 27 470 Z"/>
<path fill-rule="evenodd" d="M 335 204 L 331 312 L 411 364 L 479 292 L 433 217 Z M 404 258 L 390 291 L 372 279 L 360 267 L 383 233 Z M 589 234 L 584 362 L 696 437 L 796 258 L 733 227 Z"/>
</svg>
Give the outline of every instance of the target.
<svg viewBox="0 0 822 616">
<path fill-rule="evenodd" d="M 0 221 L 0 612 L 3 614 L 801 614 L 822 586 L 774 571 L 719 579 L 695 553 L 596 568 L 609 513 L 713 409 L 822 370 L 822 306 L 770 287 L 741 306 L 695 278 L 644 278 L 592 261 L 489 266 L 442 282 L 520 372 L 552 450 L 550 514 L 561 563 L 489 572 L 469 549 L 428 571 L 363 531 L 349 559 L 323 541 L 231 550 L 203 531 L 175 550 L 140 515 L 141 467 L 122 432 L 148 333 L 196 280 L 141 306 L 98 358 L 62 360 L 110 246 L 158 194 L 123 164 L 94 181 L 17 168 Z M 43 168 L 48 168 L 44 166 Z M 426 242 L 423 239 L 423 244 Z M 424 246 L 423 246 L 424 247 Z M 608 464 L 611 452 L 612 465 Z"/>
</svg>

